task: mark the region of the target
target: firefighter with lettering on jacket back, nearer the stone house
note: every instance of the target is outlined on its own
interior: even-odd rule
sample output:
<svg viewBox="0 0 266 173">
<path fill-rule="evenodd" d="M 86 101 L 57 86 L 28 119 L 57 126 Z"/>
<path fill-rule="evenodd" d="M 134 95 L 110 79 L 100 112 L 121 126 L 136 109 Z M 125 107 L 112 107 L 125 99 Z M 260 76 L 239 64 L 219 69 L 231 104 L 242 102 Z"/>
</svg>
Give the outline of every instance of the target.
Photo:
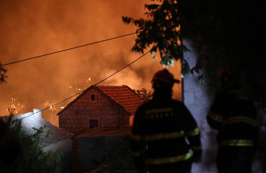
<svg viewBox="0 0 266 173">
<path fill-rule="evenodd" d="M 172 99 L 173 84 L 179 82 L 167 69 L 158 71 L 152 100 L 136 111 L 131 153 L 140 172 L 187 173 L 193 162 L 201 162 L 197 123 L 182 102 Z"/>
</svg>

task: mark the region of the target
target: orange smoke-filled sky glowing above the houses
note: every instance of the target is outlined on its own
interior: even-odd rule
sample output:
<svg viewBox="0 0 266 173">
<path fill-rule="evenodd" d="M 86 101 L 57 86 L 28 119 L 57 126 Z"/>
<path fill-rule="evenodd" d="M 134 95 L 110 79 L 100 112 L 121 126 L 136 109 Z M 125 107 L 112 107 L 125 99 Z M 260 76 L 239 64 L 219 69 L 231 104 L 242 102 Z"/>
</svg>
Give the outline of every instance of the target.
<svg viewBox="0 0 266 173">
<path fill-rule="evenodd" d="M 122 16 L 143 18 L 144 4 L 150 2 L 1 1 L 0 61 L 6 64 L 135 32 L 136 27 L 124 24 Z M 105 79 L 142 55 L 130 51 L 134 37 L 130 35 L 5 66 L 9 70 L 8 83 L 0 85 L 0 116 L 7 115 L 6 109 L 12 104 L 18 113 L 44 109 L 78 93 L 78 89 L 84 90 Z M 124 84 L 132 89 L 151 90 L 151 78 L 162 68 L 160 58 L 153 61 L 151 55 L 146 55 L 101 85 Z M 170 67 L 170 71 L 180 79 L 179 63 Z M 89 78 L 90 82 L 86 82 Z M 181 98 L 181 84 L 175 84 L 173 91 L 174 98 Z M 51 121 L 52 115 L 53 124 L 58 125 L 56 114 L 70 101 L 72 99 L 53 110 L 44 110 L 43 118 Z"/>
</svg>

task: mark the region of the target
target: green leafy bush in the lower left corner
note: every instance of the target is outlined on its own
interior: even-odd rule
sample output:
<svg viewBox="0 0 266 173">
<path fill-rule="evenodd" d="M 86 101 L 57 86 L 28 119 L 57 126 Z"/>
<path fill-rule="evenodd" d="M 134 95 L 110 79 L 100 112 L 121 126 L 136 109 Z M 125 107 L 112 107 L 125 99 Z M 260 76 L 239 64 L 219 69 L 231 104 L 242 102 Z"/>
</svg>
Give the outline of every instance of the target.
<svg viewBox="0 0 266 173">
<path fill-rule="evenodd" d="M 56 167 L 51 166 L 55 160 L 60 160 L 63 153 L 54 153 L 52 151 L 44 152 L 39 143 L 44 139 L 41 138 L 44 127 L 34 128 L 34 134 L 27 134 L 22 129 L 22 120 L 17 120 L 14 117 L 14 109 L 10 110 L 10 115 L 5 117 L 5 124 L 12 134 L 15 135 L 19 141 L 20 153 L 18 158 L 10 165 L 6 166 L 0 162 L 0 170 L 5 173 L 26 173 L 26 172 L 40 172 L 40 173 L 59 173 L 61 171 L 61 163 L 57 162 Z M 46 135 L 48 137 L 49 134 Z M 0 171 L 0 172 L 1 172 Z"/>
</svg>

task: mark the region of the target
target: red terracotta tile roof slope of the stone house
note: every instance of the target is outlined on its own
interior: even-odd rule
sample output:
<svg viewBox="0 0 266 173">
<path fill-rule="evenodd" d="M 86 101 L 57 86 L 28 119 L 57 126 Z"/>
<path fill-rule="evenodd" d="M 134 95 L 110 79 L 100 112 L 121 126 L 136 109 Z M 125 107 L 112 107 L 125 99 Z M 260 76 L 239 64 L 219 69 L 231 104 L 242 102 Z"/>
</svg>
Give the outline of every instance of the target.
<svg viewBox="0 0 266 173">
<path fill-rule="evenodd" d="M 131 115 L 135 115 L 135 112 L 138 107 L 144 102 L 146 102 L 142 97 L 140 97 L 127 85 L 96 85 L 95 87 L 100 89 L 108 97 L 110 97 L 112 100 L 121 105 Z"/>
</svg>

